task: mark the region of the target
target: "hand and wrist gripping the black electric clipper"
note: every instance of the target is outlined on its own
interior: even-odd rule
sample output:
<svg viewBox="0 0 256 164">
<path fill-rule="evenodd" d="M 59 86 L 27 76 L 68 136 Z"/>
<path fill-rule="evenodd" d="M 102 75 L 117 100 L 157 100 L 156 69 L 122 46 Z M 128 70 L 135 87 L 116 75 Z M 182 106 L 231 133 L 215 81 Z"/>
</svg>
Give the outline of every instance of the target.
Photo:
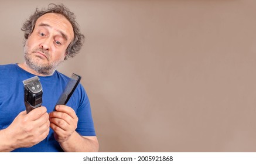
<svg viewBox="0 0 256 164">
<path fill-rule="evenodd" d="M 49 114 L 38 107 L 26 114 L 20 112 L 8 128 L 0 131 L 0 151 L 29 148 L 43 141 L 50 131 Z"/>
</svg>

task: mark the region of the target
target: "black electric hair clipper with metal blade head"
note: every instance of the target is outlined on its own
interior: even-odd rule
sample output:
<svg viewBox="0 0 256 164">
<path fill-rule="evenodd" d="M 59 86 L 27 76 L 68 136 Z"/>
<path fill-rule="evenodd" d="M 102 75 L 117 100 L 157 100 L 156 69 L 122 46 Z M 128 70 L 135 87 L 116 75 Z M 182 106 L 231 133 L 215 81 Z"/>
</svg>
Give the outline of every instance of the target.
<svg viewBox="0 0 256 164">
<path fill-rule="evenodd" d="M 33 109 L 42 105 L 43 88 L 37 76 L 23 80 L 23 84 L 24 102 L 28 114 Z"/>
</svg>

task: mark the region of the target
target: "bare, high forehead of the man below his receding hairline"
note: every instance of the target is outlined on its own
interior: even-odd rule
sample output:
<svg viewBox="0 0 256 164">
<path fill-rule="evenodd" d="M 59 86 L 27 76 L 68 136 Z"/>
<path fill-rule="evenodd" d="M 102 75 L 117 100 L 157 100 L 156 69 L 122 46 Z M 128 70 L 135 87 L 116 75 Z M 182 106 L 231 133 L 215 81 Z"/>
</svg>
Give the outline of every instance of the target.
<svg viewBox="0 0 256 164">
<path fill-rule="evenodd" d="M 40 25 L 45 24 L 50 29 L 55 30 L 56 32 L 62 32 L 67 35 L 67 39 L 71 40 L 74 37 L 73 27 L 69 20 L 59 13 L 46 13 L 45 15 L 40 16 L 36 20 L 35 28 Z"/>
</svg>

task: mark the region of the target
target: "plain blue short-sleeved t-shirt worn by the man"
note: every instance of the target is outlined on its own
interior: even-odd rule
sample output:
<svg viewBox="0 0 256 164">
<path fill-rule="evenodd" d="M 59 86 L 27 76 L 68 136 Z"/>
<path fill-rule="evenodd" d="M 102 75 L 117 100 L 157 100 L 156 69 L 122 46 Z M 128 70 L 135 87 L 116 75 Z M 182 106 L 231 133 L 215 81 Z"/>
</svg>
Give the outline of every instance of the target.
<svg viewBox="0 0 256 164">
<path fill-rule="evenodd" d="M 33 76 L 35 75 L 21 69 L 18 64 L 0 65 L 0 130 L 7 128 L 19 112 L 26 109 L 22 81 Z M 54 71 L 52 76 L 38 77 L 43 88 L 42 105 L 47 108 L 47 112 L 52 112 L 70 78 L 59 71 Z M 78 134 L 95 136 L 90 101 L 81 84 L 78 84 L 66 105 L 73 108 L 77 114 Z M 54 139 L 53 130 L 50 128 L 49 135 L 40 143 L 30 148 L 18 148 L 13 152 L 63 152 L 63 150 Z"/>
</svg>

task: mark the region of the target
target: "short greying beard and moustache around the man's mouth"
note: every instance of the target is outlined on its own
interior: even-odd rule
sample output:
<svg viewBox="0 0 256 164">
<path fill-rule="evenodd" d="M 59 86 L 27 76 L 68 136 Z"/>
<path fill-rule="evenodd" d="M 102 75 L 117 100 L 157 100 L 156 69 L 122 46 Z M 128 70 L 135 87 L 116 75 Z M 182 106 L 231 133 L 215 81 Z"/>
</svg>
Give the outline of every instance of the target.
<svg viewBox="0 0 256 164">
<path fill-rule="evenodd" d="M 47 62 L 43 61 L 45 60 L 43 59 L 45 57 L 33 55 L 33 53 L 36 52 L 41 52 L 45 54 L 45 56 L 47 57 Z M 57 60 L 56 62 L 50 63 L 49 61 L 51 59 L 51 55 L 49 54 L 49 52 L 43 50 L 42 48 L 36 48 L 29 51 L 27 45 L 25 45 L 24 47 L 24 59 L 30 69 L 35 70 L 37 73 L 43 74 L 45 76 L 52 75 L 56 70 L 56 67 L 63 62 L 63 60 Z"/>
</svg>

